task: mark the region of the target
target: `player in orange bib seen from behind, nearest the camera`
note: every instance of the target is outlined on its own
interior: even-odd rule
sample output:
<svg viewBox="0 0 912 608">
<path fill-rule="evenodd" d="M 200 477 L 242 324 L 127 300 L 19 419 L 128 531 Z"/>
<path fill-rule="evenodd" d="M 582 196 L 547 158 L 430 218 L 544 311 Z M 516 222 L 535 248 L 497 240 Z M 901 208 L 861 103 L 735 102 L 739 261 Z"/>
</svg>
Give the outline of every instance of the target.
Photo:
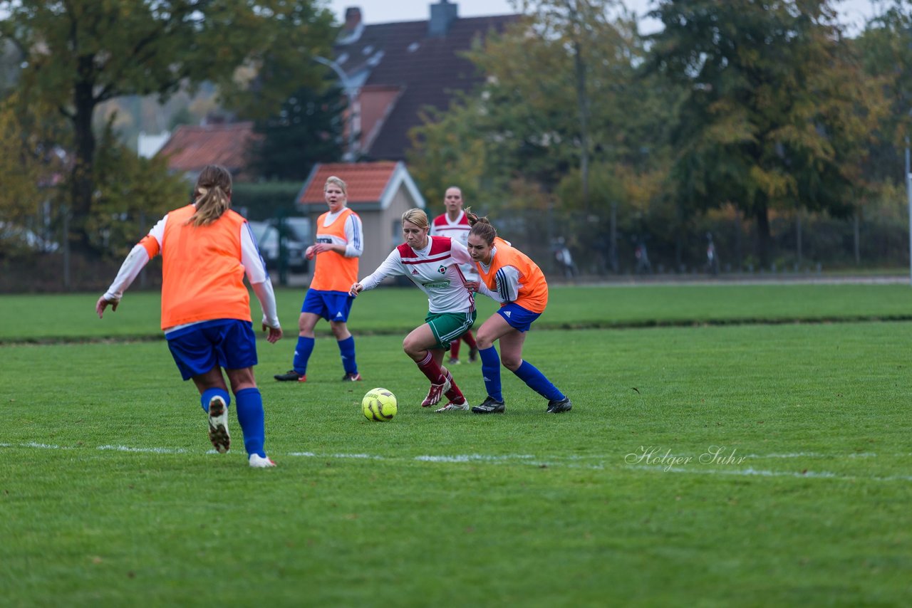
<svg viewBox="0 0 912 608">
<path fill-rule="evenodd" d="M 193 379 L 209 417 L 209 439 L 221 453 L 231 446 L 228 407 L 231 383 L 237 419 L 251 467 L 275 467 L 264 451 L 263 397 L 254 379 L 256 336 L 244 276 L 263 308 L 271 344 L 282 337 L 275 314 L 273 283 L 244 218 L 231 210 L 228 170 L 209 165 L 200 173 L 193 202 L 169 212 L 133 247 L 120 271 L 95 304 L 98 318 L 150 259 L 161 253 L 161 329 L 184 380 Z"/>
</svg>

